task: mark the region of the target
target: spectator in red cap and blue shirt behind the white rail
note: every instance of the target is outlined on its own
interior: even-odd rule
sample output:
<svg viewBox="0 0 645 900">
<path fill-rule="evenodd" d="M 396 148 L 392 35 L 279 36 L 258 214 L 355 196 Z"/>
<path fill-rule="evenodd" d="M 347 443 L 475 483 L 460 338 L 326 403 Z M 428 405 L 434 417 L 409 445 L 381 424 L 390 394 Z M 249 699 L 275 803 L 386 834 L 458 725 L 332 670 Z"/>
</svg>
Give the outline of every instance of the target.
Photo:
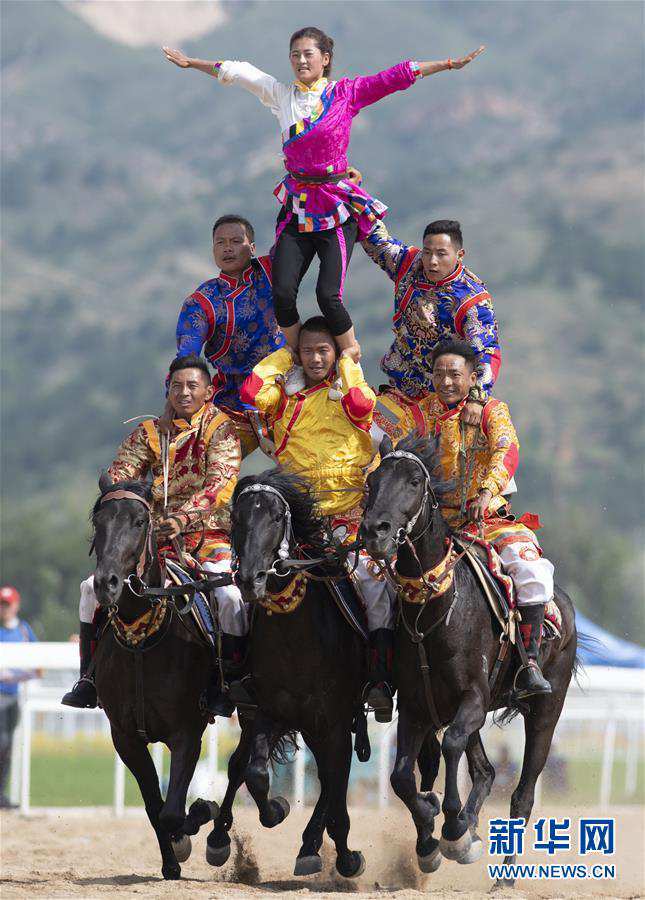
<svg viewBox="0 0 645 900">
<path fill-rule="evenodd" d="M 0 588 L 0 643 L 35 641 L 30 626 L 18 618 L 20 594 L 14 587 Z M 10 809 L 12 804 L 6 794 L 11 744 L 18 724 L 18 685 L 28 678 L 38 677 L 37 672 L 19 669 L 0 671 L 0 809 Z"/>
</svg>

